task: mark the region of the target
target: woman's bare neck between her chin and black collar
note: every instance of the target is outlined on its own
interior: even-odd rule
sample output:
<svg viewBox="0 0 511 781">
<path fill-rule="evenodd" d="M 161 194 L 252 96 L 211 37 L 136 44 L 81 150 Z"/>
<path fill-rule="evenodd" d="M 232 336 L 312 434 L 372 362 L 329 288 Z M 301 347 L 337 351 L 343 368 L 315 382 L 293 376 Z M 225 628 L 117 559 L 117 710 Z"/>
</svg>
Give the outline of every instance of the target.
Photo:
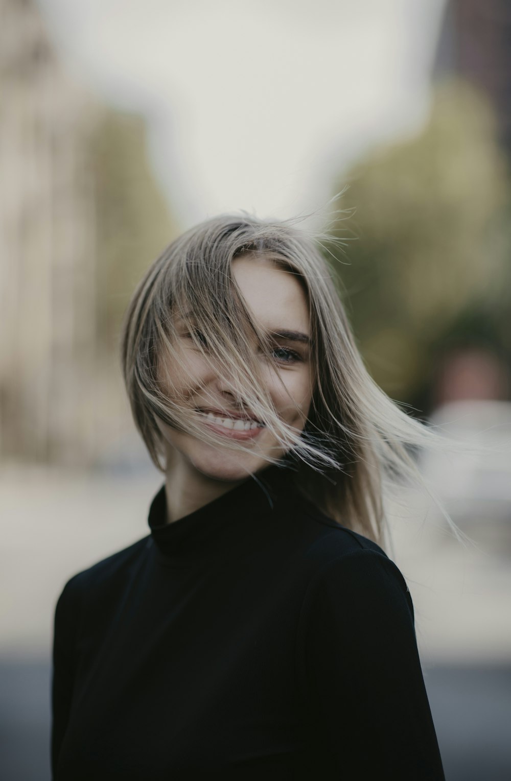
<svg viewBox="0 0 511 781">
<path fill-rule="evenodd" d="M 212 480 L 182 461 L 168 465 L 165 477 L 167 522 L 190 515 L 243 482 L 245 480 L 234 483 Z"/>
</svg>

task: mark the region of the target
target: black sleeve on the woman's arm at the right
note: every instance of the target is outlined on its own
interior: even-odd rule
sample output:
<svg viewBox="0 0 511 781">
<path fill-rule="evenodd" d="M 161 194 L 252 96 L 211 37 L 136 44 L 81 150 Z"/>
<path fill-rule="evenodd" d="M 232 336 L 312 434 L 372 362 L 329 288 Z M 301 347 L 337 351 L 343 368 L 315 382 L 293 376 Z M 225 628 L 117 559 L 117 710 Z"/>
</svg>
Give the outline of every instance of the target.
<svg viewBox="0 0 511 781">
<path fill-rule="evenodd" d="M 395 564 L 364 548 L 324 565 L 303 615 L 306 689 L 339 777 L 443 781 L 412 601 Z"/>
</svg>

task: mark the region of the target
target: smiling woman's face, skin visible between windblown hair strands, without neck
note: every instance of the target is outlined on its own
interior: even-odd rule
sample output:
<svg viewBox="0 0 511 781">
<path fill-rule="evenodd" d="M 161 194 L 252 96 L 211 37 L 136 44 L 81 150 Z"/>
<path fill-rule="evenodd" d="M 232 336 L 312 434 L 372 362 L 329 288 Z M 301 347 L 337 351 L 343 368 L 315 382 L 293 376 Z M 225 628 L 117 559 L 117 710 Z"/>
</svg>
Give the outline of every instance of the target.
<svg viewBox="0 0 511 781">
<path fill-rule="evenodd" d="M 300 432 L 306 424 L 313 394 L 306 294 L 293 274 L 279 269 L 268 258 L 252 255 L 235 259 L 232 272 L 255 321 L 266 332 L 280 334 L 272 338 L 271 355 L 259 355 L 258 360 L 278 415 Z M 167 471 L 179 465 L 185 473 L 192 473 L 195 480 L 245 480 L 268 466 L 264 454 L 280 458 L 284 450 L 276 449 L 277 441 L 265 427 L 254 421 L 248 426 L 250 412 L 237 408 L 230 381 L 209 366 L 186 330 L 180 328 L 178 319 L 176 325 L 177 350 L 183 366 L 167 362 L 171 387 L 163 383 L 166 393 L 184 399 L 191 415 L 200 415 L 205 426 L 226 440 L 240 441 L 244 450 L 207 444 L 159 421 L 166 444 Z M 254 350 L 257 351 L 256 344 Z"/>
</svg>

